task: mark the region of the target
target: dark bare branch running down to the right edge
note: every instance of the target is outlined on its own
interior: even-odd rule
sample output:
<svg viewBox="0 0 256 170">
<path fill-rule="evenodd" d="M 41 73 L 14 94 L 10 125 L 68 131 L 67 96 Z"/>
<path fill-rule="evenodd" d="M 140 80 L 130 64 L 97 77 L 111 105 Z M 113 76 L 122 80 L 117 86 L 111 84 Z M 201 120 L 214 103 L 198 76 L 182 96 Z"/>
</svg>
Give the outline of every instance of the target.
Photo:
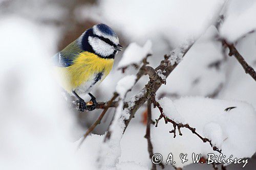
<svg viewBox="0 0 256 170">
<path fill-rule="evenodd" d="M 225 39 L 222 39 L 222 44 L 225 47 L 229 48 L 229 56 L 234 56 L 238 60 L 238 62 L 242 65 L 242 67 L 245 70 L 246 74 L 249 74 L 252 79 L 256 81 L 256 72 L 255 70 L 245 61 L 243 56 L 237 51 L 237 48 L 234 46 L 234 44 L 229 44 Z"/>
</svg>

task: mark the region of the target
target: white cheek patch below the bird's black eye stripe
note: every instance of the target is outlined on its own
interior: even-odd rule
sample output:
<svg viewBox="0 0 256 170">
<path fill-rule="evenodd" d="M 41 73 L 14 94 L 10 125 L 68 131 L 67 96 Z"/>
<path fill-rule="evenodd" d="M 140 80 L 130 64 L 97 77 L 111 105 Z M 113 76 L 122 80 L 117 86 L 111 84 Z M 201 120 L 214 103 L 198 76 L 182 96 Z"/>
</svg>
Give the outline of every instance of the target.
<svg viewBox="0 0 256 170">
<path fill-rule="evenodd" d="M 103 57 L 110 56 L 114 53 L 114 47 L 110 44 L 102 41 L 101 39 L 97 37 L 88 37 L 88 41 L 90 45 L 92 46 L 93 50 Z"/>
</svg>

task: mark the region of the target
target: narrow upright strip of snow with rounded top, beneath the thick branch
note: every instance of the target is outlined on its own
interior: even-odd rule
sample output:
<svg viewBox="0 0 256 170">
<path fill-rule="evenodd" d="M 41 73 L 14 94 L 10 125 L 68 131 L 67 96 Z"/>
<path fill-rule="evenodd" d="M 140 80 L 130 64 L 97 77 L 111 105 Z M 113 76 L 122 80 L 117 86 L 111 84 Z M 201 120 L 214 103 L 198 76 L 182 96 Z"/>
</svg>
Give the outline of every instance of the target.
<svg viewBox="0 0 256 170">
<path fill-rule="evenodd" d="M 118 99 L 118 107 L 116 108 L 113 121 L 109 128 L 111 136 L 101 145 L 100 153 L 102 155 L 99 157 L 99 168 L 115 169 L 119 163 L 121 156 L 120 141 L 125 128 L 124 120 L 130 117 L 128 110 L 123 109 L 123 102 L 126 92 L 133 87 L 135 80 L 135 75 L 129 75 L 125 76 L 117 83 L 116 92 L 119 93 L 120 96 Z"/>
</svg>

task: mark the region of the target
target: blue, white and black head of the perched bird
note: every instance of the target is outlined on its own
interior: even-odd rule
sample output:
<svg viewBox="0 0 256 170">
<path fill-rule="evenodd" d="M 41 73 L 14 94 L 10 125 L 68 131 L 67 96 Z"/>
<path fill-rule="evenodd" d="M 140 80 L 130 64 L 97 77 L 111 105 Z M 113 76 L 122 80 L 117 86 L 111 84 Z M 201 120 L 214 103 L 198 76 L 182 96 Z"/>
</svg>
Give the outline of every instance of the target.
<svg viewBox="0 0 256 170">
<path fill-rule="evenodd" d="M 122 50 L 117 34 L 109 26 L 100 23 L 84 32 L 78 39 L 82 50 L 97 54 L 102 58 L 115 58 Z"/>
</svg>

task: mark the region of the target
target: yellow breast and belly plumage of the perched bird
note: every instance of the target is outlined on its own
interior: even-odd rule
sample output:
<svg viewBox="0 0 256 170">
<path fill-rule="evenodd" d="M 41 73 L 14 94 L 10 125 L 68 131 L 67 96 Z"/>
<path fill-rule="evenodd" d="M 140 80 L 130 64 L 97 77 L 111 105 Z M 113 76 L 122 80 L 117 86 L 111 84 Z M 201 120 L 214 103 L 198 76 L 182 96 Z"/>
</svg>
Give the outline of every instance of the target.
<svg viewBox="0 0 256 170">
<path fill-rule="evenodd" d="M 72 92 L 82 84 L 90 81 L 99 72 L 103 73 L 102 81 L 112 69 L 114 59 L 104 59 L 89 52 L 83 52 L 69 67 L 56 67 L 61 86 L 68 92 Z"/>
</svg>

